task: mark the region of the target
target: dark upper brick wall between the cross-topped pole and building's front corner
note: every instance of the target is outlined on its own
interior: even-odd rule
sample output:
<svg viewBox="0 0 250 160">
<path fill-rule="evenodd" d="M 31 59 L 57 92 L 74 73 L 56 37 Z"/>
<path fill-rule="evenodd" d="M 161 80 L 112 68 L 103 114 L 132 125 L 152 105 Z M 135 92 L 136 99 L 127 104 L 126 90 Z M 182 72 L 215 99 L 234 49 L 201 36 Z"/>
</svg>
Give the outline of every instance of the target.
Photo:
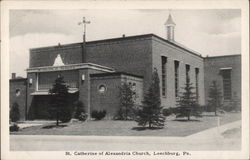
<svg viewBox="0 0 250 160">
<path fill-rule="evenodd" d="M 144 77 L 144 91 L 152 76 L 151 35 L 118 38 L 117 40 L 90 42 L 87 62 L 114 68 Z"/>
</svg>

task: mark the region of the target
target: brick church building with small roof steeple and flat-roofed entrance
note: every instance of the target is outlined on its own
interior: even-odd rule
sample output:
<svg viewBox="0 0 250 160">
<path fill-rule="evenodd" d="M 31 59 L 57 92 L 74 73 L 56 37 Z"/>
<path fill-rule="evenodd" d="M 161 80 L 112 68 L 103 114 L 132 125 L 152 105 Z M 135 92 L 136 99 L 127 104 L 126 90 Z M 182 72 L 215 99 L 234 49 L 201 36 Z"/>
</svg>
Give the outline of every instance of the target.
<svg viewBox="0 0 250 160">
<path fill-rule="evenodd" d="M 165 108 L 176 106 L 187 79 L 200 105 L 207 103 L 213 80 L 220 84 L 225 100 L 233 94 L 240 97 L 241 56 L 202 57 L 175 41 L 175 25 L 169 15 L 166 38 L 145 34 L 30 49 L 27 78 L 10 80 L 10 105 L 19 104 L 23 120 L 48 119 L 49 89 L 63 76 L 72 104 L 80 100 L 89 114 L 106 110 L 112 119 L 120 107 L 119 87 L 130 84 L 140 105 L 154 68 Z"/>
</svg>

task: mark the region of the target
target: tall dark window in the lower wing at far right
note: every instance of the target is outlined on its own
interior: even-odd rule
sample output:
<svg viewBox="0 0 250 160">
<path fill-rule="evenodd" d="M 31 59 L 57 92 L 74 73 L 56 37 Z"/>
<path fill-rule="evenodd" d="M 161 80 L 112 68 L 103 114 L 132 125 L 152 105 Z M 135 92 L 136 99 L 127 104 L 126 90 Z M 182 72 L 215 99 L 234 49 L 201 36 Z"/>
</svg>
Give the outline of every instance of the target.
<svg viewBox="0 0 250 160">
<path fill-rule="evenodd" d="M 231 70 L 222 70 L 223 79 L 223 96 L 225 100 L 232 98 L 232 86 L 231 86 Z"/>
</svg>

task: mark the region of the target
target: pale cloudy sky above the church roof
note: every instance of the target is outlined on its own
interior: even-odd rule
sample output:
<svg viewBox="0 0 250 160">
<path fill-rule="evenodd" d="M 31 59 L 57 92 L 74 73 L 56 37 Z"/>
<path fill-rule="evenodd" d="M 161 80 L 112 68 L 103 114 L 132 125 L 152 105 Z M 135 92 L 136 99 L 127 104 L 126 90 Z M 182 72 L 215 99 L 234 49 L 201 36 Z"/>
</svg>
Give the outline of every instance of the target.
<svg viewBox="0 0 250 160">
<path fill-rule="evenodd" d="M 153 33 L 166 38 L 169 13 L 176 23 L 175 41 L 202 56 L 241 54 L 241 13 L 237 9 L 207 10 L 11 10 L 10 74 L 26 77 L 29 49 Z"/>
</svg>

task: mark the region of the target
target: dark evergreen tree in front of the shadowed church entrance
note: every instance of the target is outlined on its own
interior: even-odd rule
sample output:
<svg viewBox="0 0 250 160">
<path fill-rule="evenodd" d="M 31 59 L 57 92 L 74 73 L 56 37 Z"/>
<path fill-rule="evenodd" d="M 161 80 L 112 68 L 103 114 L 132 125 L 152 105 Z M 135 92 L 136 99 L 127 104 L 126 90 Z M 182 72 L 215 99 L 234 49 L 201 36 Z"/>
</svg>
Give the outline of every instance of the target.
<svg viewBox="0 0 250 160">
<path fill-rule="evenodd" d="M 59 125 L 59 120 L 68 122 L 71 119 L 71 109 L 68 105 L 69 93 L 62 76 L 58 76 L 49 92 L 52 95 L 50 113 L 56 119 L 56 125 Z"/>
</svg>

